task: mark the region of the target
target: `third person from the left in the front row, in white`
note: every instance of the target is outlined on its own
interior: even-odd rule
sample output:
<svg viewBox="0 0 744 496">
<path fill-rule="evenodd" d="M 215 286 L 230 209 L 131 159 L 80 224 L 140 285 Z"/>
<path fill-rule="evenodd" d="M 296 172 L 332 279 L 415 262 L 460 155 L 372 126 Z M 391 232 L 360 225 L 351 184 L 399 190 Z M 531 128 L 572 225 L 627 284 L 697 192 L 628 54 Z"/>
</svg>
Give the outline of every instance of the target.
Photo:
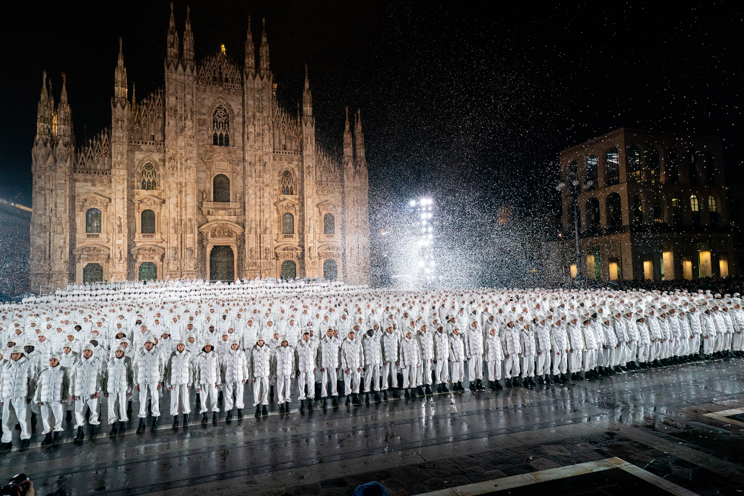
<svg viewBox="0 0 744 496">
<path fill-rule="evenodd" d="M 86 344 L 83 356 L 78 360 L 70 373 L 70 399 L 75 402 L 74 441 L 83 440 L 83 426 L 91 425 L 89 436 L 95 437 L 100 425 L 100 393 L 103 392 L 103 362 L 93 355 L 94 346 Z M 86 421 L 86 408 L 90 410 L 90 419 Z"/>
</svg>

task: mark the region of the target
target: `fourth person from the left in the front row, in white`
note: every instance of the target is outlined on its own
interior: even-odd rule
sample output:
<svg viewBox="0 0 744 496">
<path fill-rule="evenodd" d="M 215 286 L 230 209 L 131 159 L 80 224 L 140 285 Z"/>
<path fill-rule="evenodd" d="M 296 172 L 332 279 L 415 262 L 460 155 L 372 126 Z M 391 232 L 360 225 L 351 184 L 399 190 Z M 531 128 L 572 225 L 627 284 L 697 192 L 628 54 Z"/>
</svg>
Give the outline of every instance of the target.
<svg viewBox="0 0 744 496">
<path fill-rule="evenodd" d="M 103 379 L 103 396 L 106 397 L 106 409 L 109 410 L 109 437 L 124 434 L 129 420 L 126 414 L 126 403 L 134 389 L 132 361 L 124 353 L 124 347 L 117 346 L 106 364 L 106 377 Z"/>
</svg>

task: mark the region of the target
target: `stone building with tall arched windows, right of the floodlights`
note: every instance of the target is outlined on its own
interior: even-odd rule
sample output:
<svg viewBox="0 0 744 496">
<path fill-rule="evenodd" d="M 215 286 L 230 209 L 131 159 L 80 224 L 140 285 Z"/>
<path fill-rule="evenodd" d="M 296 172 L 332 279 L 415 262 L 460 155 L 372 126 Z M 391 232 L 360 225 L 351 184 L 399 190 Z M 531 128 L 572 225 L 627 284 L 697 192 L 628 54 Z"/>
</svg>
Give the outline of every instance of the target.
<svg viewBox="0 0 744 496">
<path fill-rule="evenodd" d="M 621 128 L 563 150 L 559 164 L 562 231 L 543 246 L 548 278 L 580 271 L 603 280 L 671 280 L 743 271 L 738 220 L 729 211 L 739 207 L 735 195 L 727 199 L 719 139 Z"/>
</svg>

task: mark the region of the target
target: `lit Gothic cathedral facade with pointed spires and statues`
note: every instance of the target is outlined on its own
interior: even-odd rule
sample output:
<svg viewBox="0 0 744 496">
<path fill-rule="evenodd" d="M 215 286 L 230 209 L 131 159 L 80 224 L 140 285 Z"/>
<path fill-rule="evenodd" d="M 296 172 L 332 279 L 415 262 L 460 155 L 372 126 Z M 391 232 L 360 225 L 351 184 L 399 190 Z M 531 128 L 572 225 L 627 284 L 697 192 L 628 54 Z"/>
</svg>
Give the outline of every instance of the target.
<svg viewBox="0 0 744 496">
<path fill-rule="evenodd" d="M 75 149 L 62 75 L 46 74 L 33 160 L 31 287 L 177 277 L 369 278 L 361 115 L 346 115 L 341 164 L 315 144 L 310 82 L 301 112 L 275 98 L 266 30 L 250 18 L 244 67 L 224 47 L 196 62 L 173 7 L 165 85 L 128 95 L 119 41 L 111 129 Z"/>
</svg>

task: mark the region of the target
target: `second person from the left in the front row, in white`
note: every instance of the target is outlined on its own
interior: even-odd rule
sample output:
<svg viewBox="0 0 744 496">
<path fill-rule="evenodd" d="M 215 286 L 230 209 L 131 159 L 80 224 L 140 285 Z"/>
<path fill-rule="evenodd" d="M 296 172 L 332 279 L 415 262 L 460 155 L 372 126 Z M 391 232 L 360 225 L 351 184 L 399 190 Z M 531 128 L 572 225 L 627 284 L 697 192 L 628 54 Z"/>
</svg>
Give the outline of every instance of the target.
<svg viewBox="0 0 744 496">
<path fill-rule="evenodd" d="M 44 423 L 42 434 L 45 436 L 42 446 L 60 442 L 63 412 L 69 399 L 69 389 L 70 377 L 67 369 L 60 365 L 60 355 L 51 355 L 48 367 L 39 373 L 36 393 L 33 395 L 33 402 L 40 408 Z"/>
</svg>

